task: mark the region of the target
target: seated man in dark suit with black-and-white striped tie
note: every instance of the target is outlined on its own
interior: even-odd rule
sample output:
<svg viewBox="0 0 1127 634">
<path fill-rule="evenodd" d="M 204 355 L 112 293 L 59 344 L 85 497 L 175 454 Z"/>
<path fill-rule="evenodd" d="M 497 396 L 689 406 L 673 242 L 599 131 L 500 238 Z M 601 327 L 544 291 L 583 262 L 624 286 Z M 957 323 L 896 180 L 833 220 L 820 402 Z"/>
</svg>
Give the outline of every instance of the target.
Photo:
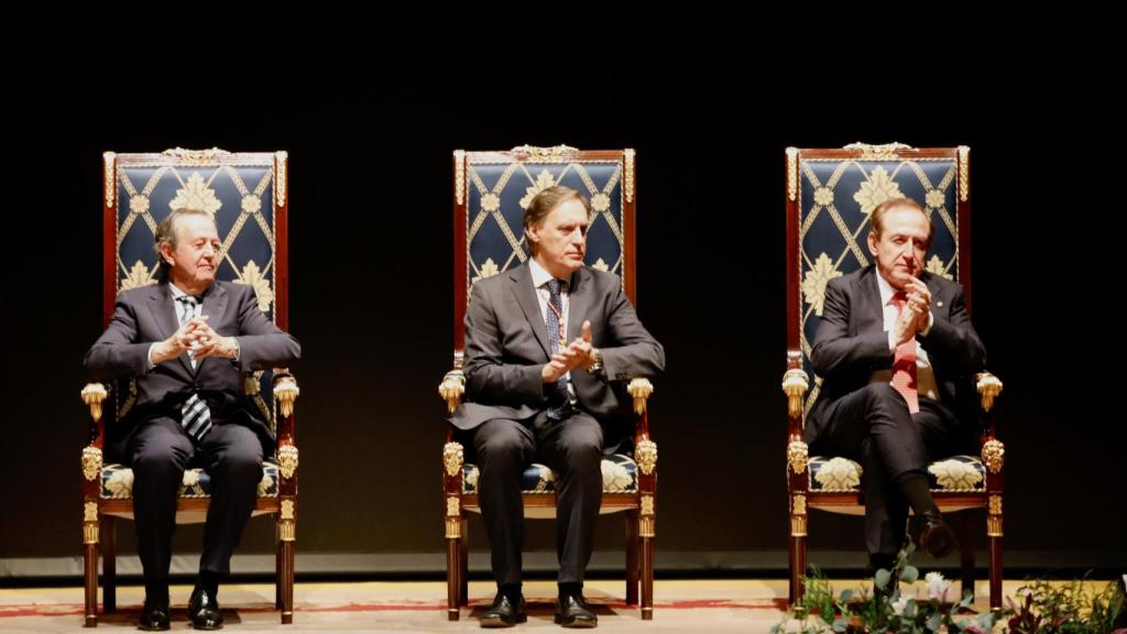
<svg viewBox="0 0 1127 634">
<path fill-rule="evenodd" d="M 249 285 L 215 280 L 214 218 L 175 210 L 157 228 L 161 281 L 122 292 L 86 354 L 96 380 L 133 376 L 136 402 L 107 430 L 112 456 L 133 468 L 133 511 L 145 581 L 142 629 L 168 629 L 176 496 L 189 466 L 213 488 L 199 576 L 188 602 L 197 629 L 222 626 L 216 593 L 255 505 L 274 437 L 246 397 L 243 373 L 296 361 L 301 347 L 258 309 Z"/>
</svg>

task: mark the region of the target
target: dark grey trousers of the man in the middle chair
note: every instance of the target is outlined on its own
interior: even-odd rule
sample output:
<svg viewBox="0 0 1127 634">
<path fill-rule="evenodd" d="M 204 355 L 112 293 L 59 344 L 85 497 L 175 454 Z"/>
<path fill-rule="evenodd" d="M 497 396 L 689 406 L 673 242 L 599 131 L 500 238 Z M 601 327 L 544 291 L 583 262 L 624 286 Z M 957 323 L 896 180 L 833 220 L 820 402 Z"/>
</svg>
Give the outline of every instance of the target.
<svg viewBox="0 0 1127 634">
<path fill-rule="evenodd" d="M 481 516 L 497 584 L 521 582 L 521 474 L 533 461 L 556 474 L 558 581 L 582 583 L 603 495 L 603 429 L 598 421 L 577 411 L 562 421 L 551 421 L 543 412 L 529 421 L 496 419 L 477 429 L 473 447 Z"/>
</svg>

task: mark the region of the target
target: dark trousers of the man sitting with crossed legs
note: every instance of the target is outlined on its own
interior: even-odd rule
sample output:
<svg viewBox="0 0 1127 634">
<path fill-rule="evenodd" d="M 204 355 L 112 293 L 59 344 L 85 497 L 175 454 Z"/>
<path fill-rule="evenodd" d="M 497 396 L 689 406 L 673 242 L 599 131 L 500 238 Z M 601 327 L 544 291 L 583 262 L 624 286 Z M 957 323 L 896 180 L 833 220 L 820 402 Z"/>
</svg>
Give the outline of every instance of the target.
<svg viewBox="0 0 1127 634">
<path fill-rule="evenodd" d="M 965 431 L 950 410 L 920 398 L 920 412 L 888 384 L 870 384 L 826 406 L 816 454 L 844 456 L 864 470 L 864 541 L 870 555 L 895 555 L 904 545 L 908 503 L 896 477 L 958 452 Z"/>
</svg>

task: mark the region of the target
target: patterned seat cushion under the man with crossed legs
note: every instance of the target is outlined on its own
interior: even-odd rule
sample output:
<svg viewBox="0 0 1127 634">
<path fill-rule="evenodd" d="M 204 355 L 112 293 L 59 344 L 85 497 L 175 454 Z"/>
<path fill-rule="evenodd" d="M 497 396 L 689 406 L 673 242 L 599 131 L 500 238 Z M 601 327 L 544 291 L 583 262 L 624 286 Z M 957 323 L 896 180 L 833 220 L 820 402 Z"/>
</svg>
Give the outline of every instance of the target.
<svg viewBox="0 0 1127 634">
<path fill-rule="evenodd" d="M 853 492 L 861 490 L 861 465 L 841 457 L 810 458 L 810 491 Z M 928 479 L 935 493 L 986 491 L 986 467 L 974 456 L 951 456 L 928 465 Z"/>
</svg>

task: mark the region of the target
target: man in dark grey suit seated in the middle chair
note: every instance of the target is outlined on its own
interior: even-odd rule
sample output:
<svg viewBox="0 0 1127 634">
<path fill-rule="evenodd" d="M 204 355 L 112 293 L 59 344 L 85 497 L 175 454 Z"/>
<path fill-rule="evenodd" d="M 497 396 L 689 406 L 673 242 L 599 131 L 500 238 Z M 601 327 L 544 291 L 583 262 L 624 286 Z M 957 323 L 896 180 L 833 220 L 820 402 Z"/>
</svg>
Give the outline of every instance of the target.
<svg viewBox="0 0 1127 634">
<path fill-rule="evenodd" d="M 556 473 L 556 620 L 565 627 L 597 624 L 583 578 L 602 501 L 602 457 L 630 439 L 622 381 L 665 366 L 662 345 L 638 322 L 620 279 L 584 266 L 589 218 L 578 192 L 540 192 L 524 214 L 532 257 L 478 281 L 465 315 L 468 402 L 450 422 L 472 433 L 480 467 L 479 499 L 498 588 L 483 627 L 525 619 L 521 474 L 532 461 Z"/>
</svg>

